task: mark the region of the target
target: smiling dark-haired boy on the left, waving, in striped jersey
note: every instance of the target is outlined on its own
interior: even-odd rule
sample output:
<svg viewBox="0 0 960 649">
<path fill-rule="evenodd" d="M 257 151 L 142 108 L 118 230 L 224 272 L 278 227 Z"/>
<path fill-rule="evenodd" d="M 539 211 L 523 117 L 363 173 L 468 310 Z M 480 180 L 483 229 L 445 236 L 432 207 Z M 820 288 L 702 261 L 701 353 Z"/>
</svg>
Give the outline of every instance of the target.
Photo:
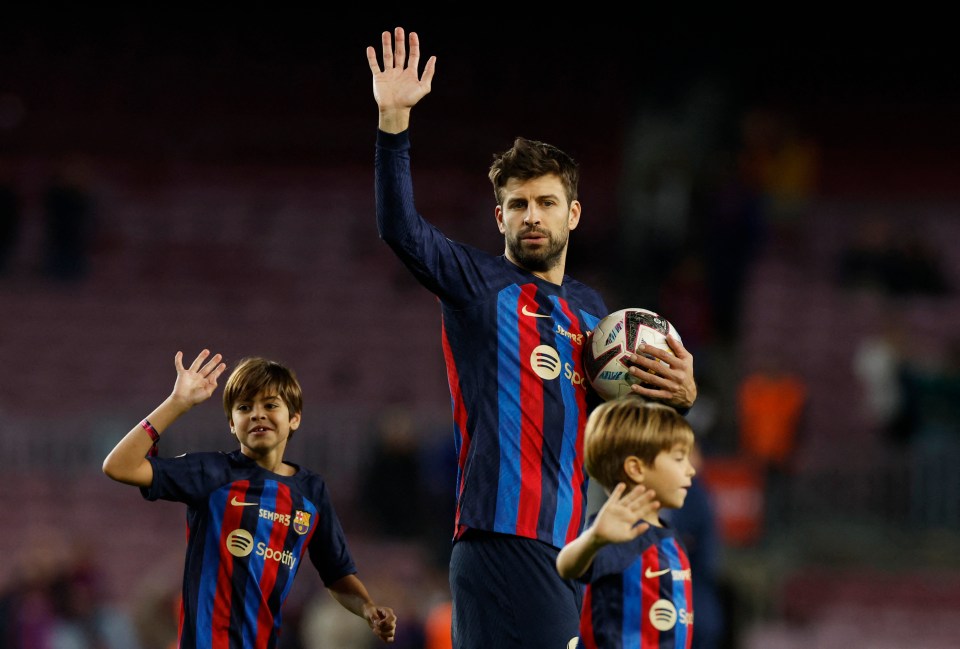
<svg viewBox="0 0 960 649">
<path fill-rule="evenodd" d="M 227 379 L 223 407 L 239 450 L 157 457 L 160 433 L 216 390 L 221 359 L 205 349 L 185 368 L 177 352 L 173 392 L 103 461 L 105 474 L 147 500 L 187 505 L 178 647 L 275 647 L 281 606 L 307 553 L 331 595 L 393 642 L 397 618 L 356 576 L 323 479 L 283 459 L 303 409 L 291 370 L 247 358 Z"/>
</svg>

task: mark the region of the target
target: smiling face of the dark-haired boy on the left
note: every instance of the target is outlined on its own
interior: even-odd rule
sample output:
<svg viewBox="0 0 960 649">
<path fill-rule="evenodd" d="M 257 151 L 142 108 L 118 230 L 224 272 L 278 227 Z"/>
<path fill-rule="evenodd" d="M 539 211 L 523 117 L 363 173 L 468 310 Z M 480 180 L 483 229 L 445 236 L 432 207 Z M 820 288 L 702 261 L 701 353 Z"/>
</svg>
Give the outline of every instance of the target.
<svg viewBox="0 0 960 649">
<path fill-rule="evenodd" d="M 291 431 L 300 426 L 300 413 L 290 408 L 277 394 L 261 391 L 250 401 L 237 401 L 230 411 L 230 430 L 240 444 L 255 455 L 279 451 L 281 456 Z"/>
</svg>

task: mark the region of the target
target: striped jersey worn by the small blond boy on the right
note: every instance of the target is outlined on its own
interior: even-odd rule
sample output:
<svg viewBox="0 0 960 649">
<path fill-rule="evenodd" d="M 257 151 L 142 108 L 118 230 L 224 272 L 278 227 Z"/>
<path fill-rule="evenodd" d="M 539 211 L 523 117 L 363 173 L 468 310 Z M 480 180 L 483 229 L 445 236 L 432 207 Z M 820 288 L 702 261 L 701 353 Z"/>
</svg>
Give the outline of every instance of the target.
<svg viewBox="0 0 960 649">
<path fill-rule="evenodd" d="M 579 649 L 690 649 L 690 561 L 670 528 L 604 547 L 580 581 Z"/>
</svg>

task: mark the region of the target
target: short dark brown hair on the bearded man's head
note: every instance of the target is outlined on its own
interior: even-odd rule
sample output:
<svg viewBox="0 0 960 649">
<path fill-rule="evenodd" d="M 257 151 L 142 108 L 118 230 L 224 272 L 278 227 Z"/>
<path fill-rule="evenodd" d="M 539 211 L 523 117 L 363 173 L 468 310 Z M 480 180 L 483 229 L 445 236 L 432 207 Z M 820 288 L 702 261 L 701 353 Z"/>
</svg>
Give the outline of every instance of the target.
<svg viewBox="0 0 960 649">
<path fill-rule="evenodd" d="M 493 156 L 487 176 L 493 183 L 497 205 L 502 205 L 501 193 L 511 178 L 530 180 L 548 174 L 560 177 L 568 205 L 577 200 L 580 165 L 557 147 L 545 142 L 518 137 L 511 148 Z"/>
</svg>

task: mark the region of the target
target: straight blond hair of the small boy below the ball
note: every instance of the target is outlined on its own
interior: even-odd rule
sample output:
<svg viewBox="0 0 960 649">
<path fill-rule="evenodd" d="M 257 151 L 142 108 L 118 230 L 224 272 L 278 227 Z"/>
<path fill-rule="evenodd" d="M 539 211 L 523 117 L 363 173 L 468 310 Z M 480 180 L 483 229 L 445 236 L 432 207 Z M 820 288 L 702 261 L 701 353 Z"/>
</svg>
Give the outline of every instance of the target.
<svg viewBox="0 0 960 649">
<path fill-rule="evenodd" d="M 590 477 L 612 491 L 627 482 L 624 461 L 631 455 L 647 466 L 661 451 L 681 444 L 693 447 L 693 429 L 668 405 L 626 396 L 605 401 L 587 418 L 584 431 L 584 464 Z"/>
</svg>

